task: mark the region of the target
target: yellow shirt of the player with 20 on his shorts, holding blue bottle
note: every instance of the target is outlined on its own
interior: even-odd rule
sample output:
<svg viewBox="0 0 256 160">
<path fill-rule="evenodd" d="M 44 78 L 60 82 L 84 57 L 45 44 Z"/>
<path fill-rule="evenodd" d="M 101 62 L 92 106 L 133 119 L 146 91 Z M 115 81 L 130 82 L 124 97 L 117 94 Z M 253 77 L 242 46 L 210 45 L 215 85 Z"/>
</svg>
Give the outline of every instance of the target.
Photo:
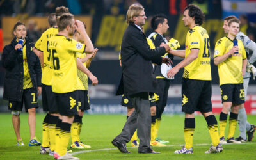
<svg viewBox="0 0 256 160">
<path fill-rule="evenodd" d="M 239 47 L 238 53 L 232 54 L 227 60 L 218 64 L 218 73 L 220 79 L 220 86 L 222 84 L 239 84 L 243 83 L 242 67 L 243 60 L 246 59 L 246 52 L 241 40 L 237 40 Z M 233 40 L 227 36 L 221 38 L 216 42 L 214 58 L 223 56 L 234 46 Z"/>
</svg>

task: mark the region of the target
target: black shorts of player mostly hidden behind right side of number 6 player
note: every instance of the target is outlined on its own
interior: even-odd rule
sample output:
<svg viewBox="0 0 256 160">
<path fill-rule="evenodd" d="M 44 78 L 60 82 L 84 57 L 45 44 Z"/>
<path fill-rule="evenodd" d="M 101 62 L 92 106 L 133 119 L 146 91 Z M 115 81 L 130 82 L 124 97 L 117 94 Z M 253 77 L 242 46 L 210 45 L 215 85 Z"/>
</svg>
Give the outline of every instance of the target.
<svg viewBox="0 0 256 160">
<path fill-rule="evenodd" d="M 82 111 L 90 109 L 88 90 L 77 90 L 77 106 Z"/>
</svg>

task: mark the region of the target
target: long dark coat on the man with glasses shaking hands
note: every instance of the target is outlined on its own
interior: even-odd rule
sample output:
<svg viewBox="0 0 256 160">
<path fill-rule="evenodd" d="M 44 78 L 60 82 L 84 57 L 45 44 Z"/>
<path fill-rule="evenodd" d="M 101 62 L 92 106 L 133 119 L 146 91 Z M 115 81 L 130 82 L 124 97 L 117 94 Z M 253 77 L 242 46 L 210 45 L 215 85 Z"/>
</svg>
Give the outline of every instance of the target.
<svg viewBox="0 0 256 160">
<path fill-rule="evenodd" d="M 122 79 L 116 95 L 156 91 L 152 62 L 161 65 L 164 47 L 150 49 L 145 34 L 130 23 L 121 44 Z"/>
</svg>

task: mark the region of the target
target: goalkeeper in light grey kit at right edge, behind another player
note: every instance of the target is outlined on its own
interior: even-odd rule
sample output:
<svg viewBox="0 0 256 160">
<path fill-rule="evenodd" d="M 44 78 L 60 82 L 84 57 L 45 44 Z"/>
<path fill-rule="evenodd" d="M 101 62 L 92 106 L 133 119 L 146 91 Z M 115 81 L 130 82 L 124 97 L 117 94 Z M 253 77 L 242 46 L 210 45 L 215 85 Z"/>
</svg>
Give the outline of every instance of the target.
<svg viewBox="0 0 256 160">
<path fill-rule="evenodd" d="M 223 29 L 225 33 L 228 33 L 228 21 L 230 19 L 236 19 L 236 18 L 237 18 L 236 16 L 231 15 L 224 19 Z M 256 76 L 256 72 L 255 72 L 256 69 L 254 70 L 253 68 L 255 67 L 252 65 L 256 61 L 256 43 L 250 40 L 248 36 L 244 35 L 244 33 L 241 31 L 237 33 L 236 38 L 243 42 L 246 53 L 249 54 L 250 51 L 252 51 L 252 56 L 250 56 L 250 58 L 248 58 L 247 60 L 246 73 L 244 74 L 244 100 L 246 100 L 248 84 L 250 80 L 250 72 L 252 72 L 253 74 L 253 79 L 255 79 L 255 76 Z M 247 121 L 244 104 L 241 105 L 241 108 L 239 108 L 239 111 L 238 111 L 238 124 L 239 124 L 240 135 L 239 137 L 236 138 L 236 140 L 241 142 L 246 141 L 247 140 L 246 131 L 247 131 L 248 141 L 252 141 L 253 133 L 255 132 L 255 125 L 252 125 Z"/>
</svg>

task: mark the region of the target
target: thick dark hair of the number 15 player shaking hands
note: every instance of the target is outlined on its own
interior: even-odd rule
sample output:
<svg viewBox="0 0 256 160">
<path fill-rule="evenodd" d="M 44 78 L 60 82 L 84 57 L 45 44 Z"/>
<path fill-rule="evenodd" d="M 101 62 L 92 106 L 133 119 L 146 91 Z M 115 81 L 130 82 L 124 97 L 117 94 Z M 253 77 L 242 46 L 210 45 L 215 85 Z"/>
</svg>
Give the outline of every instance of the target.
<svg viewBox="0 0 256 160">
<path fill-rule="evenodd" d="M 195 24 L 202 25 L 204 23 L 204 13 L 195 4 L 189 4 L 185 10 L 188 10 L 189 17 L 195 17 Z"/>
</svg>

